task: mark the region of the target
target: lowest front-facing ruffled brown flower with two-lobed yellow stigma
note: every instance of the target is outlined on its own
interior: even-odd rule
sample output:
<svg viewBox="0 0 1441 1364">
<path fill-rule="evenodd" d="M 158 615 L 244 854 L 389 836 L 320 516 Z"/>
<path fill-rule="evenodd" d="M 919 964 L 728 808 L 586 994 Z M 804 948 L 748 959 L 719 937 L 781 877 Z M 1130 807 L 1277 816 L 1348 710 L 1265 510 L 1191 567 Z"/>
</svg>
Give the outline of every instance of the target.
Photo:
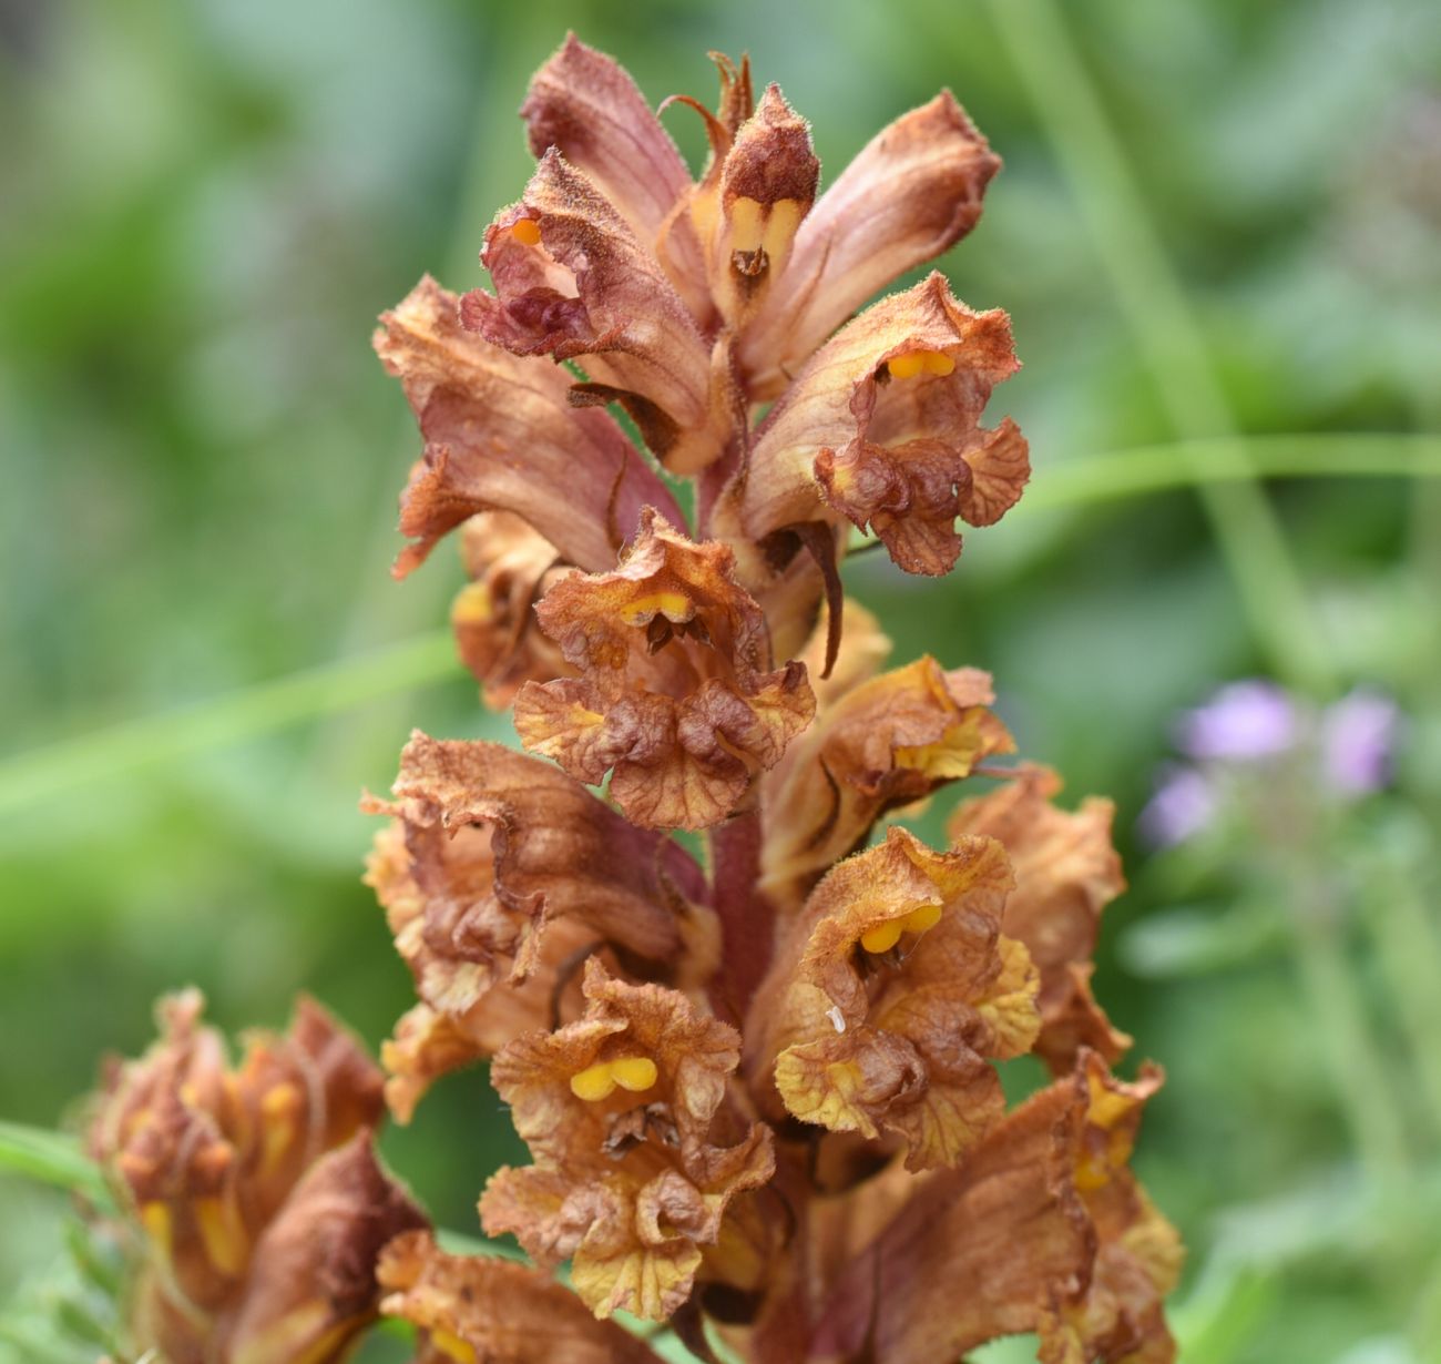
<svg viewBox="0 0 1441 1364">
<path fill-rule="evenodd" d="M 491 1067 L 536 1164 L 501 1169 L 480 1211 L 542 1265 L 572 1257 L 598 1316 L 669 1316 L 731 1200 L 769 1179 L 769 1129 L 728 1102 L 735 1029 L 684 995 L 586 963 L 585 1015 L 516 1038 Z"/>
</svg>

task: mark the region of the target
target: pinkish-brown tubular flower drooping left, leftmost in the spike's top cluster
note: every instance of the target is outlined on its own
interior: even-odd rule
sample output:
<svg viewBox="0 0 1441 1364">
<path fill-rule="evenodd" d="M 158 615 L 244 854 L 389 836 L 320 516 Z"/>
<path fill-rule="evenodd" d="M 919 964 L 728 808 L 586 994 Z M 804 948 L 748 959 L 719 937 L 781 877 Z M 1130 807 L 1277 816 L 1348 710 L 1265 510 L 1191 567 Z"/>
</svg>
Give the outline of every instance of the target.
<svg viewBox="0 0 1441 1364">
<path fill-rule="evenodd" d="M 571 407 L 563 371 L 465 332 L 460 300 L 428 275 L 380 316 L 375 347 L 427 441 L 401 499 L 401 531 L 415 544 L 398 577 L 477 512 L 516 513 L 581 568 L 614 561 L 641 506 L 680 515 L 605 412 Z"/>
</svg>

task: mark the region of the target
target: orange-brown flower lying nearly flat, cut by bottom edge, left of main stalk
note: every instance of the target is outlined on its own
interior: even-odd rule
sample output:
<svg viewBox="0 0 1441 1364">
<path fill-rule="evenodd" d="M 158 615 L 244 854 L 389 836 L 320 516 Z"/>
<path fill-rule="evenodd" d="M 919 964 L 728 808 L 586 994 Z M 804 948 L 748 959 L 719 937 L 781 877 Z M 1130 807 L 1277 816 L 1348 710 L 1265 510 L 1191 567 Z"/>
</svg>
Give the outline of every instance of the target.
<svg viewBox="0 0 1441 1364">
<path fill-rule="evenodd" d="M 396 1237 L 376 1269 L 380 1311 L 419 1332 L 415 1364 L 657 1364 L 574 1292 L 523 1265 L 445 1254 L 427 1231 Z"/>
</svg>

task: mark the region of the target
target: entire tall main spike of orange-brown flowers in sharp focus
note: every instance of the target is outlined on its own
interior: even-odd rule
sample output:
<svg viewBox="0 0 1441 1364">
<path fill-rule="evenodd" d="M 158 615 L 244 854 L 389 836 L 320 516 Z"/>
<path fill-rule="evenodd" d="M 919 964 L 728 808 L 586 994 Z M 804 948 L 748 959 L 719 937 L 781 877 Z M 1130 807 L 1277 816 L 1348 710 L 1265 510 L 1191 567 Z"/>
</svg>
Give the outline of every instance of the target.
<svg viewBox="0 0 1441 1364">
<path fill-rule="evenodd" d="M 1030 476 L 987 411 L 1007 316 L 938 273 L 867 306 L 1000 163 L 941 94 L 827 186 L 780 89 L 716 61 L 715 111 L 667 101 L 703 120 L 693 177 L 568 39 L 488 287 L 422 280 L 376 335 L 424 437 L 396 574 L 458 532 L 460 653 L 526 750 L 418 732 L 366 800 L 418 995 L 385 1094 L 409 1122 L 490 1060 L 530 1164 L 481 1224 L 536 1266 L 412 1231 L 382 1309 L 461 1364 L 656 1358 L 621 1309 L 700 1358 L 937 1364 L 1029 1331 L 1048 1364 L 1160 1364 L 1180 1249 L 1128 1159 L 1161 1077 L 1111 1074 L 1130 1038 L 1091 989 L 1111 806 L 1004 764 L 987 673 L 888 669 L 842 581 L 857 536 L 950 572 Z M 955 783 L 947 846 L 892 822 Z M 1027 1054 L 1053 1079 L 1013 1104 Z"/>
</svg>

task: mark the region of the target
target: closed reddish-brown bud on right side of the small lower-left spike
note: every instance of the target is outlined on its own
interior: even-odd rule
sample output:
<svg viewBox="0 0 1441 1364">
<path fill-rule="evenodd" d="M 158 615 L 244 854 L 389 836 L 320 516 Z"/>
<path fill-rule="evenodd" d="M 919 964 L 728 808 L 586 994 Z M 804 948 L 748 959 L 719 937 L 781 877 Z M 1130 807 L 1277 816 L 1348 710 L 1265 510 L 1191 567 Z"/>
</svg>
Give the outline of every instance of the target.
<svg viewBox="0 0 1441 1364">
<path fill-rule="evenodd" d="M 255 1247 L 222 1332 L 226 1364 L 330 1364 L 375 1321 L 376 1260 L 427 1218 L 379 1166 L 370 1133 L 317 1161 Z"/>
</svg>

